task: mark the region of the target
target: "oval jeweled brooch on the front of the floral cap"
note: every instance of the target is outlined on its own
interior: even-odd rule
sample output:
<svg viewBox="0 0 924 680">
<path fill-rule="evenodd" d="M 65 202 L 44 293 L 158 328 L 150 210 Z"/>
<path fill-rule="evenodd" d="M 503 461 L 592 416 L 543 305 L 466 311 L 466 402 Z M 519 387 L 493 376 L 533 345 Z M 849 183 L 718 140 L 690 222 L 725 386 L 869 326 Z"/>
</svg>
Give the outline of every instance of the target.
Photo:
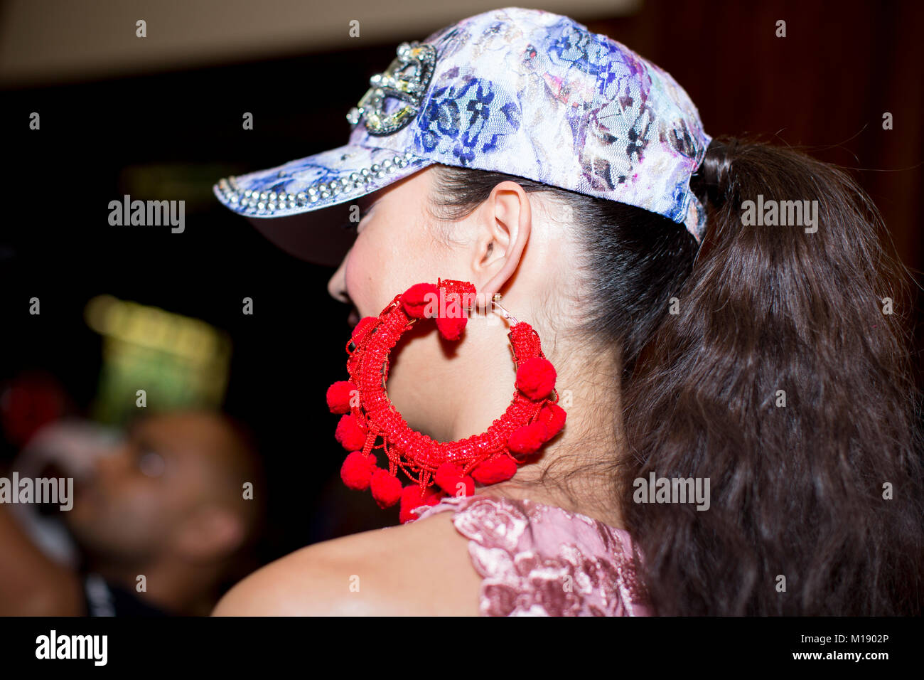
<svg viewBox="0 0 924 680">
<path fill-rule="evenodd" d="M 401 43 L 398 56 L 383 73 L 369 79 L 371 87 L 359 104 L 346 114 L 352 124 L 360 118 L 372 135 L 392 134 L 404 128 L 419 113 L 423 94 L 427 92 L 436 66 L 436 48 L 429 43 Z M 385 98 L 395 97 L 405 103 L 392 113 L 385 112 Z"/>
</svg>

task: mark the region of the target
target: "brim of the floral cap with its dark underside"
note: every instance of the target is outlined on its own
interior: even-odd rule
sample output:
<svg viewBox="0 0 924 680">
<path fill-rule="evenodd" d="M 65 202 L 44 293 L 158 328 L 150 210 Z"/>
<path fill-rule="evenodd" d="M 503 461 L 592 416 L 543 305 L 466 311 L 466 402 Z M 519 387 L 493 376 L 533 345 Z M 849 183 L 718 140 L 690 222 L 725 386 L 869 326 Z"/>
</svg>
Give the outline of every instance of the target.
<svg viewBox="0 0 924 680">
<path fill-rule="evenodd" d="M 282 166 L 221 179 L 213 192 L 286 253 L 317 265 L 337 266 L 356 238 L 343 226 L 347 205 L 432 164 L 429 158 L 393 149 L 346 144 Z M 321 208 L 330 209 L 307 215 Z"/>
</svg>

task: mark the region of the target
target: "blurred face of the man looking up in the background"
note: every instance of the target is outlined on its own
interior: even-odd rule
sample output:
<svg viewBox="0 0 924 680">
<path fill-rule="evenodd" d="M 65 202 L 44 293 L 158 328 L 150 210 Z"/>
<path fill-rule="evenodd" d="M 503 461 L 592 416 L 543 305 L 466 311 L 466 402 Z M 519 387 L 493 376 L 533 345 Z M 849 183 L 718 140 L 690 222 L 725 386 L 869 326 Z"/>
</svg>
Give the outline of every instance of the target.
<svg viewBox="0 0 924 680">
<path fill-rule="evenodd" d="M 213 497 L 227 437 L 207 414 L 155 415 L 130 427 L 63 513 L 81 547 L 128 562 L 169 552 L 179 525 Z"/>
</svg>

